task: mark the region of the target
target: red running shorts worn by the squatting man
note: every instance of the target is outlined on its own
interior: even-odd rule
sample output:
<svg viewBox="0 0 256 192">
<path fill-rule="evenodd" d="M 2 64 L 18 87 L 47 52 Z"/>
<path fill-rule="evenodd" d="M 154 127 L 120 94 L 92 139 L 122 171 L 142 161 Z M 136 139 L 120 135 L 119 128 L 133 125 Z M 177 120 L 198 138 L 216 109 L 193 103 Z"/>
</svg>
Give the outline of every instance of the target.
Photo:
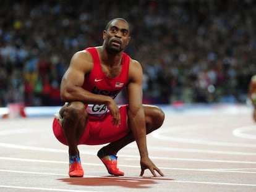
<svg viewBox="0 0 256 192">
<path fill-rule="evenodd" d="M 127 135 L 127 105 L 119 107 L 121 115 L 121 124 L 119 127 L 113 125 L 112 116 L 108 111 L 103 118 L 90 119 L 90 116 L 85 126 L 85 131 L 79 139 L 78 144 L 98 145 L 111 143 L 119 140 Z M 66 137 L 61 128 L 59 120 L 56 117 L 53 119 L 53 133 L 56 138 L 67 145 Z"/>
</svg>

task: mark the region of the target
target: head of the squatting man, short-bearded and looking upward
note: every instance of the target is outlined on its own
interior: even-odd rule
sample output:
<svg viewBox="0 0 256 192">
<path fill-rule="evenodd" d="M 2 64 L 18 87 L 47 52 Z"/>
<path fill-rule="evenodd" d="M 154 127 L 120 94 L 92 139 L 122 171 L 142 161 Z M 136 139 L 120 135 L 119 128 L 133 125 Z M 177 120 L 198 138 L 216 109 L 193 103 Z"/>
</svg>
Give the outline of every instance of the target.
<svg viewBox="0 0 256 192">
<path fill-rule="evenodd" d="M 103 31 L 106 50 L 109 52 L 124 51 L 130 41 L 129 26 L 122 20 L 114 20 L 108 30 Z"/>
</svg>

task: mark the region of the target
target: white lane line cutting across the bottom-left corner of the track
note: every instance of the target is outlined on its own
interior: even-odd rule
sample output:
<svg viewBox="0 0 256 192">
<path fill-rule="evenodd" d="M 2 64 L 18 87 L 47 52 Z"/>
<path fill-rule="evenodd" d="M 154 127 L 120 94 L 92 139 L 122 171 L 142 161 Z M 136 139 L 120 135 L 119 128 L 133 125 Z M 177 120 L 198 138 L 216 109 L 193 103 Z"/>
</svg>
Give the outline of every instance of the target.
<svg viewBox="0 0 256 192">
<path fill-rule="evenodd" d="M 62 190 L 56 188 L 40 188 L 32 186 L 11 186 L 11 185 L 0 185 L 0 188 L 12 188 L 19 190 L 41 190 L 41 191 L 66 191 L 66 192 L 100 192 L 100 191 L 80 191 L 80 190 Z"/>
</svg>

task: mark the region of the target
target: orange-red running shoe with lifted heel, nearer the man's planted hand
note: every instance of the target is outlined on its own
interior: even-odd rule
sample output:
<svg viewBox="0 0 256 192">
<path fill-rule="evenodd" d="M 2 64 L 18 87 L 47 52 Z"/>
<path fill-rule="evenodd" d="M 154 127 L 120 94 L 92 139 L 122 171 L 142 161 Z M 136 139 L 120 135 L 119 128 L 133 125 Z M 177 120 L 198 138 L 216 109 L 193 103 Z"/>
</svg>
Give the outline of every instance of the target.
<svg viewBox="0 0 256 192">
<path fill-rule="evenodd" d="M 100 151 L 98 151 L 97 156 L 103 162 L 103 164 L 105 165 L 109 174 L 116 175 L 116 176 L 123 176 L 124 175 L 124 172 L 121 172 L 117 168 L 117 156 L 115 156 L 115 155 L 106 155 L 105 152 L 103 151 L 103 149 L 100 149 Z"/>
</svg>

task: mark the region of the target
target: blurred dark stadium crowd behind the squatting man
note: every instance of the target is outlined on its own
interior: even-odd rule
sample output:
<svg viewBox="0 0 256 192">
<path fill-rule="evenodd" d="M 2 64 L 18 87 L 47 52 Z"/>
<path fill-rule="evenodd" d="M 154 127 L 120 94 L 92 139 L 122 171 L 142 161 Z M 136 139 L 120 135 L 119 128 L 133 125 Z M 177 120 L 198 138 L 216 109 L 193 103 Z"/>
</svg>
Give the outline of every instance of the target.
<svg viewBox="0 0 256 192">
<path fill-rule="evenodd" d="M 131 25 L 145 103 L 245 102 L 256 73 L 253 0 L 2 0 L 0 15 L 0 107 L 61 105 L 70 58 L 114 17 Z"/>
</svg>

